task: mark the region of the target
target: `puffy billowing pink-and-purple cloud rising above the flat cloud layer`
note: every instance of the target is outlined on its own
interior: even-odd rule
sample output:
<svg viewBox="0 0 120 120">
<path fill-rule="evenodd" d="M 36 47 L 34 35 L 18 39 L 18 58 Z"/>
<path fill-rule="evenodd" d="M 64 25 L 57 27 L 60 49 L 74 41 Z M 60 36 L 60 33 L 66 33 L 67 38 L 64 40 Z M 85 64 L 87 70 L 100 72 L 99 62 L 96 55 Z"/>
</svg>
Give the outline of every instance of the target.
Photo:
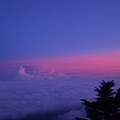
<svg viewBox="0 0 120 120">
<path fill-rule="evenodd" d="M 29 73 L 31 69 L 31 74 Z M 41 66 L 21 66 L 17 69 L 16 78 L 22 80 L 37 80 L 37 79 L 63 79 L 65 74 L 62 72 L 57 72 L 53 66 L 50 65 L 41 65 Z"/>
</svg>

